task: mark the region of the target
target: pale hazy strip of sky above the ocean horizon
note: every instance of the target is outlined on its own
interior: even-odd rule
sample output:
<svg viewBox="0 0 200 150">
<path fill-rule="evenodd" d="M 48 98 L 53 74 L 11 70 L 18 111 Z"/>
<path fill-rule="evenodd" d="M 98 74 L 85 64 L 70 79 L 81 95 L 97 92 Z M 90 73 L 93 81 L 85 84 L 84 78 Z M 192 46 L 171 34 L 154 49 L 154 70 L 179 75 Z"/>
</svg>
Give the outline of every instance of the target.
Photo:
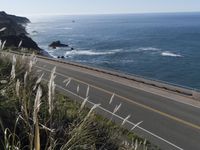
<svg viewBox="0 0 200 150">
<path fill-rule="evenodd" d="M 0 0 L 16 15 L 197 12 L 200 0 Z"/>
</svg>

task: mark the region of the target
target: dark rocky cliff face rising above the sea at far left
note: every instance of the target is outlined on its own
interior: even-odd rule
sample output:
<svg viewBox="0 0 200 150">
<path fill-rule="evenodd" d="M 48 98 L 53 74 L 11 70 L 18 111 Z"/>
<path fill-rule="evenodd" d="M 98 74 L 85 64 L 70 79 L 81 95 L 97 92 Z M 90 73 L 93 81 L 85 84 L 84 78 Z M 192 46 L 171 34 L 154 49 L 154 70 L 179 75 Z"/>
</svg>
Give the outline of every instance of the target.
<svg viewBox="0 0 200 150">
<path fill-rule="evenodd" d="M 40 50 L 38 45 L 27 36 L 25 25 L 30 23 L 29 19 L 15 15 L 9 15 L 0 11 L 0 29 L 6 27 L 6 30 L 0 32 L 0 40 L 6 41 L 5 48 L 17 47 L 22 41 L 21 47 Z"/>
</svg>

